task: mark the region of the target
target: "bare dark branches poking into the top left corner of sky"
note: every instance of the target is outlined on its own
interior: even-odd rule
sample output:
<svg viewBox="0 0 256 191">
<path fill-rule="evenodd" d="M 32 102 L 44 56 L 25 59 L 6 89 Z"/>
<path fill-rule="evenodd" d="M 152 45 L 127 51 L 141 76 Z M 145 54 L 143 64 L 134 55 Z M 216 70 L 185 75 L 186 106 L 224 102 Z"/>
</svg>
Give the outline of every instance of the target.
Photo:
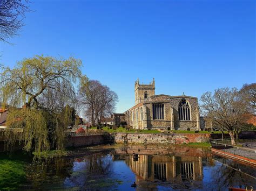
<svg viewBox="0 0 256 191">
<path fill-rule="evenodd" d="M 0 0 L 0 40 L 17 35 L 24 25 L 25 12 L 29 11 L 28 0 Z"/>
</svg>

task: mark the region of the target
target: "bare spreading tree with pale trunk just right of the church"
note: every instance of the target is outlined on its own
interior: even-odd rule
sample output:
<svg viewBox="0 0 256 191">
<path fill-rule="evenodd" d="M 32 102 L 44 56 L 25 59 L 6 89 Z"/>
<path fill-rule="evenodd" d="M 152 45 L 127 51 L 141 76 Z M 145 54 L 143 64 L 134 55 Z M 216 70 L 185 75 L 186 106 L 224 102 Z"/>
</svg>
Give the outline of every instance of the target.
<svg viewBox="0 0 256 191">
<path fill-rule="evenodd" d="M 236 88 L 220 88 L 201 96 L 204 115 L 211 118 L 220 128 L 228 131 L 231 144 L 235 145 L 234 133 L 246 122 L 246 103 L 241 100 Z"/>
</svg>

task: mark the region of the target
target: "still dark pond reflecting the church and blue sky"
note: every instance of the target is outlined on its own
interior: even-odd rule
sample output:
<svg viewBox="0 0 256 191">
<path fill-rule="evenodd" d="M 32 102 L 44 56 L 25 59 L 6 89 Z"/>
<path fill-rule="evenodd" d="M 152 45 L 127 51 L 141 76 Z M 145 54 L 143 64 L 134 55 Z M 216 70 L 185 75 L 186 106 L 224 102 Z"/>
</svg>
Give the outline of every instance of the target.
<svg viewBox="0 0 256 191">
<path fill-rule="evenodd" d="M 0 190 L 256 188 L 255 167 L 213 155 L 207 147 L 96 146 L 48 160 L 2 154 L 0 167 Z"/>
</svg>

